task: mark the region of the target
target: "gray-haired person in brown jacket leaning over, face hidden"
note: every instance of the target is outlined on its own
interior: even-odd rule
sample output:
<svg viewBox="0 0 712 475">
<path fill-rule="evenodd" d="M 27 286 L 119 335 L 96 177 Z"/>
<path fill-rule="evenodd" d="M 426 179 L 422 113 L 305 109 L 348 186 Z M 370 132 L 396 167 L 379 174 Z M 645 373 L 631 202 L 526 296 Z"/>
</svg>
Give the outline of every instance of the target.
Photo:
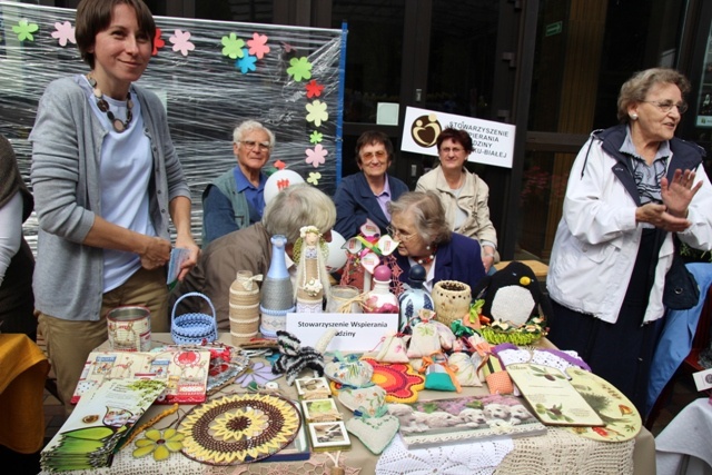
<svg viewBox="0 0 712 475">
<path fill-rule="evenodd" d="M 174 289 L 169 309 L 181 295 L 199 291 L 214 304 L 218 328 L 229 328 L 229 289 L 238 270 L 250 270 L 253 275 L 267 275 L 271 261 L 271 236 L 287 238 L 287 267 L 291 267 L 294 244 L 300 228 L 315 226 L 322 237 L 332 240 L 332 227 L 336 221 L 336 208 L 332 198 L 310 185 L 293 185 L 279 191 L 267 207 L 260 222 L 233 231 L 210 243 L 202 250 L 198 265 Z M 201 308 L 205 306 L 206 308 Z M 186 298 L 176 308 L 176 315 L 207 313 L 204 299 Z"/>
</svg>

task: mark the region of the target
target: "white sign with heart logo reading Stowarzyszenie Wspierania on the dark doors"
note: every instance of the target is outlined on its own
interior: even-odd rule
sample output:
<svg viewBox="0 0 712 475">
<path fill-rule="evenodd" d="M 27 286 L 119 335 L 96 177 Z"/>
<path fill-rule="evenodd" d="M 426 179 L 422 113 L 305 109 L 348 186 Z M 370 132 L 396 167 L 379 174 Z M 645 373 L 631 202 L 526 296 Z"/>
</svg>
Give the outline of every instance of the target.
<svg viewBox="0 0 712 475">
<path fill-rule="evenodd" d="M 448 127 L 466 130 L 472 137 L 468 161 L 512 168 L 514 126 L 415 107 L 406 108 L 400 150 L 437 157 L 437 136 Z"/>
</svg>

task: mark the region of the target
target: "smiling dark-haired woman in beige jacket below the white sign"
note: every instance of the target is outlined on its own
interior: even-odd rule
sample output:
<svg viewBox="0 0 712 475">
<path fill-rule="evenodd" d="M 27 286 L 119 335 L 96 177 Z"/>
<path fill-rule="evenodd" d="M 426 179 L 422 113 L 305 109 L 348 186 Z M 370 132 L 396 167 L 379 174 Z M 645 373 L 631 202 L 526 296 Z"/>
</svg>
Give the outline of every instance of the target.
<svg viewBox="0 0 712 475">
<path fill-rule="evenodd" d="M 488 273 L 500 260 L 497 232 L 490 220 L 490 187 L 465 168 L 472 150 L 472 138 L 465 130 L 443 130 L 437 137 L 439 166 L 422 176 L 415 189 L 438 194 L 449 228 L 479 241 L 482 263 Z"/>
</svg>

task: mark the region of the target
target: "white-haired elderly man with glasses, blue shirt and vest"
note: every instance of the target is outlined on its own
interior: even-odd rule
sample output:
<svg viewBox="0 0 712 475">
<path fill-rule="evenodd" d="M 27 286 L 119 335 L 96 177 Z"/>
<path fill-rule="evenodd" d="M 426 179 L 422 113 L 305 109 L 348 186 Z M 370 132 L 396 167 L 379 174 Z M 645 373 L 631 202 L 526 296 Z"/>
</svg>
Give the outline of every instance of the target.
<svg viewBox="0 0 712 475">
<path fill-rule="evenodd" d="M 275 135 L 255 120 L 233 131 L 237 166 L 216 178 L 202 192 L 202 246 L 228 232 L 258 222 L 265 210 L 263 167 L 275 147 Z"/>
</svg>

